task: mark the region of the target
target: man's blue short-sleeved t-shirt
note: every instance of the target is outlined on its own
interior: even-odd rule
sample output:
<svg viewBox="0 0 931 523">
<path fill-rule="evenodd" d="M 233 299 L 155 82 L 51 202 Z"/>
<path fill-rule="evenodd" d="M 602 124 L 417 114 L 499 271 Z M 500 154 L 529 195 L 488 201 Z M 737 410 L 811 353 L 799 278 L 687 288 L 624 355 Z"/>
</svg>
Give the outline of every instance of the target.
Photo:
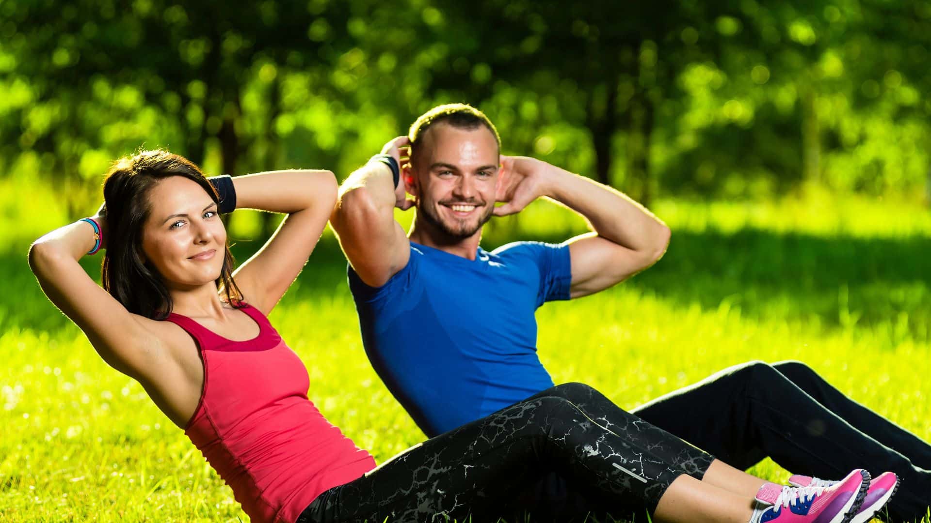
<svg viewBox="0 0 931 523">
<path fill-rule="evenodd" d="M 534 312 L 568 300 L 568 245 L 518 242 L 474 261 L 411 242 L 411 260 L 371 288 L 349 268 L 372 367 L 436 436 L 553 386 Z"/>
</svg>

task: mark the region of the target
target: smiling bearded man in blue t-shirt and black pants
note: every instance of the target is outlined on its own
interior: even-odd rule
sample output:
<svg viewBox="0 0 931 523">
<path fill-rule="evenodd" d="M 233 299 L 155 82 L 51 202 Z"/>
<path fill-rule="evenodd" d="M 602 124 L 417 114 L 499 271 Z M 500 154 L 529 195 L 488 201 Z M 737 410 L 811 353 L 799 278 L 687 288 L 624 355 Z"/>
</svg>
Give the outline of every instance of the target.
<svg viewBox="0 0 931 523">
<path fill-rule="evenodd" d="M 478 110 L 436 107 L 344 182 L 331 217 L 372 366 L 427 436 L 552 386 L 536 355 L 536 308 L 610 288 L 668 245 L 668 227 L 626 195 L 540 160 L 502 156 L 500 146 Z M 482 224 L 541 196 L 593 231 L 559 245 L 479 247 Z M 394 208 L 412 207 L 405 235 Z M 888 505 L 896 517 L 923 516 L 931 504 L 931 446 L 803 364 L 728 369 L 635 413 L 738 468 L 771 456 L 829 478 L 857 466 L 892 470 L 904 478 Z"/>
</svg>

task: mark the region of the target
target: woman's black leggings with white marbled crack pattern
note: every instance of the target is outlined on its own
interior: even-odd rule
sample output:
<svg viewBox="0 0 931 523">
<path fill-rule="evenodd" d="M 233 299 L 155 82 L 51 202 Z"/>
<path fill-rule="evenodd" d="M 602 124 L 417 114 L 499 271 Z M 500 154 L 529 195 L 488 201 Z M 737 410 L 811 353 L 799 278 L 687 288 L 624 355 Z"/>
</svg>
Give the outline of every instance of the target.
<svg viewBox="0 0 931 523">
<path fill-rule="evenodd" d="M 676 477 L 701 478 L 712 460 L 595 389 L 566 383 L 323 492 L 298 522 L 492 519 L 553 472 L 601 503 L 652 513 Z"/>
</svg>

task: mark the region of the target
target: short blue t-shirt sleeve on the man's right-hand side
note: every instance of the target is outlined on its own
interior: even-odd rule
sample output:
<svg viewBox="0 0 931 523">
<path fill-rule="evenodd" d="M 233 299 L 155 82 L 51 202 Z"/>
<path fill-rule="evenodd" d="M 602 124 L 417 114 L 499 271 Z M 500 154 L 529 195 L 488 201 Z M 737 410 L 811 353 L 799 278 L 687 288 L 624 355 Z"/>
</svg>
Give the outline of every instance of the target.
<svg viewBox="0 0 931 523">
<path fill-rule="evenodd" d="M 527 261 L 536 267 L 540 275 L 537 307 L 546 302 L 569 300 L 569 289 L 573 283 L 569 244 L 515 242 L 495 249 L 494 254 L 515 261 Z"/>
</svg>

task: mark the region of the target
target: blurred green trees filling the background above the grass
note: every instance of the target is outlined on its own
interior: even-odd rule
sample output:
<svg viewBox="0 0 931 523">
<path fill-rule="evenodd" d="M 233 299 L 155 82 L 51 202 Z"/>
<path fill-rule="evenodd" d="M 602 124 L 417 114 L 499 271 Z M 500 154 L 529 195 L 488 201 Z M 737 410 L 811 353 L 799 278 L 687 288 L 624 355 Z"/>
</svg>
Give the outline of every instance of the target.
<svg viewBox="0 0 931 523">
<path fill-rule="evenodd" d="M 74 202 L 141 143 L 343 177 L 468 101 L 506 152 L 642 200 L 931 191 L 929 20 L 924 0 L 0 3 L 0 168 Z"/>
</svg>

